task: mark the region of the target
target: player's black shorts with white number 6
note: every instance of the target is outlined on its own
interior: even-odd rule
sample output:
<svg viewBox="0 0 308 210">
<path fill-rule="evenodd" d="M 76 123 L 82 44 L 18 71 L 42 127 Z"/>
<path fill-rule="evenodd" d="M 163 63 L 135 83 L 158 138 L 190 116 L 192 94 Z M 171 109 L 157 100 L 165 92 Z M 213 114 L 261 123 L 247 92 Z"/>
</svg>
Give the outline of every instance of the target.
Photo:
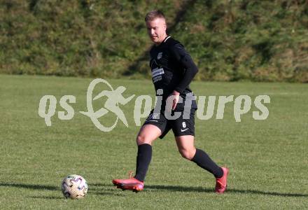
<svg viewBox="0 0 308 210">
<path fill-rule="evenodd" d="M 174 137 L 195 136 L 195 111 L 195 109 L 190 109 L 190 113 L 184 115 L 184 111 L 177 110 L 176 112 L 181 112 L 181 116 L 176 120 L 168 120 L 164 112 L 153 113 L 152 110 L 144 125 L 150 124 L 158 127 L 162 131 L 160 139 L 164 138 L 171 129 L 174 132 Z M 172 111 L 172 116 L 174 116 L 174 111 Z M 183 116 L 186 117 L 183 118 Z M 187 116 L 189 117 L 187 118 Z"/>
</svg>

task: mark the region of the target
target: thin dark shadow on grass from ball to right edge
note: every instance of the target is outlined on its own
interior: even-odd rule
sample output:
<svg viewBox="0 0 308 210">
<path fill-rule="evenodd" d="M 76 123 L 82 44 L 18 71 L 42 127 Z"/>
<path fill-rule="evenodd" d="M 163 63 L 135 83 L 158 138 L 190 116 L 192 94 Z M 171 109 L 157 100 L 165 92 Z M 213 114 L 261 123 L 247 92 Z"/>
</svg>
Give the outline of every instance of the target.
<svg viewBox="0 0 308 210">
<path fill-rule="evenodd" d="M 92 186 L 96 187 L 111 187 L 109 184 L 95 183 Z M 197 193 L 214 193 L 214 188 L 202 188 L 202 187 L 186 187 L 186 186 L 161 186 L 161 185 L 146 185 L 145 189 L 149 190 L 167 190 L 174 192 L 197 192 Z M 116 189 L 115 189 L 116 190 Z M 278 192 L 267 192 L 261 190 L 237 190 L 228 188 L 227 193 L 242 193 L 242 194 L 255 194 L 255 195 L 272 195 L 280 197 L 308 197 L 307 194 L 302 193 L 278 193 Z"/>
</svg>

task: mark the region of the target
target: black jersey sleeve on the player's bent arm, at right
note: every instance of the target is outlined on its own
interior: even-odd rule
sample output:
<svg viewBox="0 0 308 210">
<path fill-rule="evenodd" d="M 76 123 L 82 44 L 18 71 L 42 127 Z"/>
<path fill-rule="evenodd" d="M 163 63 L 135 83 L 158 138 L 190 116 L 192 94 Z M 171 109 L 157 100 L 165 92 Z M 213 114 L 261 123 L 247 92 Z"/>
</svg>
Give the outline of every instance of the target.
<svg viewBox="0 0 308 210">
<path fill-rule="evenodd" d="M 195 77 L 196 73 L 198 72 L 198 68 L 195 62 L 193 62 L 192 57 L 190 57 L 188 52 L 186 52 L 181 43 L 176 43 L 173 45 L 171 51 L 176 59 L 176 62 L 180 62 L 185 70 L 183 73 L 183 80 L 181 80 L 175 88 L 177 92 L 182 93 Z"/>
</svg>

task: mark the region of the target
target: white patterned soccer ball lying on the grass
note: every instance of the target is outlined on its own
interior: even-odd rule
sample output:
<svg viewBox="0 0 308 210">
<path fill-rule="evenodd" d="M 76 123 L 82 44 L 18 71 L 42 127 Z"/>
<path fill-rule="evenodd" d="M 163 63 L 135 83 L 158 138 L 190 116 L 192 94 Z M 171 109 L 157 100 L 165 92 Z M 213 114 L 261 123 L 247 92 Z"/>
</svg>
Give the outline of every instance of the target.
<svg viewBox="0 0 308 210">
<path fill-rule="evenodd" d="M 81 199 L 87 194 L 87 181 L 83 176 L 72 174 L 63 179 L 61 188 L 64 197 Z"/>
</svg>

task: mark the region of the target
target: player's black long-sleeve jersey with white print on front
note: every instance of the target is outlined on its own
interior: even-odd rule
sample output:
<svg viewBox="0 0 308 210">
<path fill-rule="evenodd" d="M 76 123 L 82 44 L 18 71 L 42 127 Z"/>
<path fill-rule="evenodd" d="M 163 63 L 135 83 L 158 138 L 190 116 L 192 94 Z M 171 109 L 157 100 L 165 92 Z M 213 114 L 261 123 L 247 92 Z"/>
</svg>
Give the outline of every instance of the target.
<svg viewBox="0 0 308 210">
<path fill-rule="evenodd" d="M 183 99 L 183 103 L 177 104 L 176 109 L 184 109 L 188 99 L 192 101 L 191 107 L 197 109 L 195 96 L 189 84 L 198 69 L 183 45 L 171 36 L 167 36 L 160 45 L 151 48 L 150 55 L 155 90 L 156 92 L 158 89 L 163 90 L 162 109 L 165 109 L 165 101 L 174 90 L 180 92 Z"/>
</svg>

